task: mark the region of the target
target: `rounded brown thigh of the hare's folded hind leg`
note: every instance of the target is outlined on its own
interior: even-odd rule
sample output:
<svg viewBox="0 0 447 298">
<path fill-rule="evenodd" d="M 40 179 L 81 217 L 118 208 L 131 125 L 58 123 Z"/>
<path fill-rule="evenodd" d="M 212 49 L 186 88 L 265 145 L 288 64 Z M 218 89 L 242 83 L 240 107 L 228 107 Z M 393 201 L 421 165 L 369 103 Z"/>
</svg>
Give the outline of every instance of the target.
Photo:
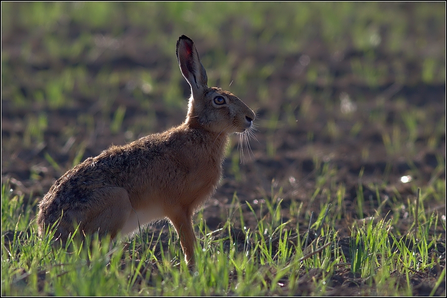
<svg viewBox="0 0 447 298">
<path fill-rule="evenodd" d="M 95 190 L 89 218 L 81 223 L 84 232 L 98 233 L 100 237 L 110 234 L 114 239 L 129 219 L 132 211 L 129 194 L 122 187 L 105 186 Z"/>
</svg>

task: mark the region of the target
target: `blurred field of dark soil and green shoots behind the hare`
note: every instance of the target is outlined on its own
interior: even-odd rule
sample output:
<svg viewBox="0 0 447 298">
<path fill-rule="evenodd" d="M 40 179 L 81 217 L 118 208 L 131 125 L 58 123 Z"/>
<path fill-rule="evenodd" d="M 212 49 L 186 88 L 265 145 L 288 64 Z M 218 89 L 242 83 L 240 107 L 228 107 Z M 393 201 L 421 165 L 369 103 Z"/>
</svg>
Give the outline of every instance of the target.
<svg viewBox="0 0 447 298">
<path fill-rule="evenodd" d="M 181 124 L 183 34 L 209 85 L 258 116 L 251 150 L 231 140 L 210 224 L 235 191 L 273 188 L 316 210 L 344 189 L 362 218 L 359 185 L 423 187 L 445 214 L 445 2 L 2 2 L 2 184 L 38 200 L 111 144 Z"/>
</svg>

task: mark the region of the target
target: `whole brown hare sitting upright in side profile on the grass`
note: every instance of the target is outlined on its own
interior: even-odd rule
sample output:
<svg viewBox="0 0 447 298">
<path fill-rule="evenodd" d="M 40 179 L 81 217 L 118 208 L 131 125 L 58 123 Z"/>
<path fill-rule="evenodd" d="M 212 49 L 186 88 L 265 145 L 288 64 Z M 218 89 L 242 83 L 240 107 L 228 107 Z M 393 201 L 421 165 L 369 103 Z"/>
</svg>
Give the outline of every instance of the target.
<svg viewBox="0 0 447 298">
<path fill-rule="evenodd" d="M 186 120 L 168 131 L 112 146 L 58 179 L 39 204 L 39 234 L 54 223 L 64 243 L 81 235 L 115 238 L 167 218 L 185 260 L 193 263 L 194 212 L 213 194 L 222 175 L 230 133 L 249 133 L 255 113 L 239 98 L 208 87 L 193 41 L 177 41 L 180 70 L 191 86 Z"/>
</svg>

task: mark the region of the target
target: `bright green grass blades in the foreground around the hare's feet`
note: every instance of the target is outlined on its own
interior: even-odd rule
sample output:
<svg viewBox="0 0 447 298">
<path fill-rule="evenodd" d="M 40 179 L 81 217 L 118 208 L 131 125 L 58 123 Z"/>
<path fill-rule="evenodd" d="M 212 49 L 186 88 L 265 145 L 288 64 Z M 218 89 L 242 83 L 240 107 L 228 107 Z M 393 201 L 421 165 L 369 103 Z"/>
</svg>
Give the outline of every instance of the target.
<svg viewBox="0 0 447 298">
<path fill-rule="evenodd" d="M 109 245 L 107 239 L 84 246 L 73 242 L 69 249 L 52 247 L 51 234 L 37 236 L 36 202 L 24 203 L 23 196 L 12 196 L 3 185 L 1 225 L 10 233 L 1 238 L 2 295 L 327 295 L 331 277 L 342 268 L 374 285 L 370 294 L 411 295 L 410 277 L 439 266 L 431 253 L 440 241 L 433 231 L 441 227 L 445 233 L 445 219 L 427 214 L 422 202 L 415 230 L 414 222 L 407 231 L 396 229 L 402 208 L 394 206 L 394 218 L 355 222 L 349 251 L 343 252 L 332 222 L 341 212 L 332 208 L 335 202 L 324 204 L 316 219 L 308 218 L 314 220 L 312 227 L 300 234 L 297 222 L 283 221 L 279 197 L 281 190 L 272 187 L 257 210 L 246 203 L 257 219 L 253 228 L 245 227 L 243 217 L 233 216 L 221 230 L 210 231 L 199 214 L 197 263 L 187 267 L 172 228 L 161 232 L 165 237 L 156 230 L 144 232 L 143 239 L 137 234 L 127 248 L 120 242 Z M 415 206 L 408 203 L 413 217 Z M 241 208 L 237 204 L 232 214 L 242 214 Z M 290 211 L 291 219 L 305 216 L 298 206 Z M 162 251 L 156 252 L 157 247 Z M 310 281 L 312 290 L 301 292 L 300 277 L 312 270 L 319 272 Z M 396 282 L 398 276 L 404 281 Z M 434 278 L 439 287 L 445 268 Z"/>
</svg>

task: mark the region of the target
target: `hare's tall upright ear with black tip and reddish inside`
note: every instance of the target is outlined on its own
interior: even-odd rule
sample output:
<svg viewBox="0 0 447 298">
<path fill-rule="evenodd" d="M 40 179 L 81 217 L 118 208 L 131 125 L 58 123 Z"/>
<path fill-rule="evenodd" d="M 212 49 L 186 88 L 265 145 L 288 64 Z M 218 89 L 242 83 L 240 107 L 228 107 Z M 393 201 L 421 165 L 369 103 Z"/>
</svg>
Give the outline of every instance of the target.
<svg viewBox="0 0 447 298">
<path fill-rule="evenodd" d="M 208 88 L 208 77 L 191 38 L 182 35 L 177 41 L 177 61 L 192 94 Z"/>
</svg>

